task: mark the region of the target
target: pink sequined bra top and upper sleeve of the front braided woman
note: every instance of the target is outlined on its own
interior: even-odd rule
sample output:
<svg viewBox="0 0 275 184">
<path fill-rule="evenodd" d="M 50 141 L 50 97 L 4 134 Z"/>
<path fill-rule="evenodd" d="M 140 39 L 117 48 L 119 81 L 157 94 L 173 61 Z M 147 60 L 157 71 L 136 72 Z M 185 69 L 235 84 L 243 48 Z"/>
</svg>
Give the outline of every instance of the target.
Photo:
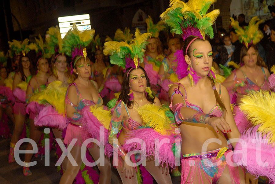
<svg viewBox="0 0 275 184">
<path fill-rule="evenodd" d="M 186 90 L 184 88 L 184 86 L 182 86 L 181 83 L 177 83 L 178 84 L 178 88 L 175 88 L 174 89 L 174 93 L 172 94 L 171 96 L 171 104 L 169 105 L 170 109 L 174 112 L 174 115 L 175 115 L 175 121 L 177 124 L 179 123 L 182 123 L 182 117 L 181 117 L 181 114 L 179 113 L 180 112 L 180 109 L 182 107 L 188 107 L 190 109 L 193 109 L 195 111 L 198 111 L 198 112 L 203 112 L 203 110 L 200 108 L 200 106 L 198 105 L 195 105 L 195 104 L 192 104 L 190 103 L 188 100 L 187 100 L 187 93 L 186 93 Z M 182 92 L 181 90 L 179 89 L 179 87 L 182 86 L 183 89 L 185 90 L 185 98 L 184 98 L 184 101 L 185 101 L 185 104 L 183 103 L 177 103 L 175 105 L 172 106 L 172 101 L 173 101 L 173 96 L 174 94 L 181 94 L 182 95 Z M 219 84 L 219 94 L 221 96 L 221 84 Z M 182 98 L 183 98 L 183 95 L 182 95 Z M 222 109 L 220 107 L 219 104 L 215 105 L 211 110 L 210 112 L 208 113 L 209 115 L 215 115 L 217 117 L 221 117 L 222 116 Z"/>
</svg>

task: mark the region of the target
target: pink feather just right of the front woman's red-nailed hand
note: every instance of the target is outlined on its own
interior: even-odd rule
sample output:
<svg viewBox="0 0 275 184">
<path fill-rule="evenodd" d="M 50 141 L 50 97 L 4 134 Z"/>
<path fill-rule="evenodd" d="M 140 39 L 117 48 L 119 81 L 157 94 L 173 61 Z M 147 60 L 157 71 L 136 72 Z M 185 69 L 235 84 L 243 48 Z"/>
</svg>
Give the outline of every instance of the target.
<svg viewBox="0 0 275 184">
<path fill-rule="evenodd" d="M 246 119 L 244 113 L 240 110 L 238 106 L 234 107 L 233 112 L 235 114 L 234 120 L 240 133 L 243 133 L 252 126 L 252 124 Z"/>
</svg>

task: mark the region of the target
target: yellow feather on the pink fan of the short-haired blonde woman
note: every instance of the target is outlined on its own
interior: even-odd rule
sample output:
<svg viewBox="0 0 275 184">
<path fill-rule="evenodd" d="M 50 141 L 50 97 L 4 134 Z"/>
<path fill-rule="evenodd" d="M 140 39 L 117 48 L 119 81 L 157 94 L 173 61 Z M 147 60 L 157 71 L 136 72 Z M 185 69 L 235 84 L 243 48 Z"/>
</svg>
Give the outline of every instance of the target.
<svg viewBox="0 0 275 184">
<path fill-rule="evenodd" d="M 97 105 L 91 105 L 90 111 L 108 130 L 112 118 L 111 111 L 104 110 L 102 106 L 98 107 Z"/>
</svg>

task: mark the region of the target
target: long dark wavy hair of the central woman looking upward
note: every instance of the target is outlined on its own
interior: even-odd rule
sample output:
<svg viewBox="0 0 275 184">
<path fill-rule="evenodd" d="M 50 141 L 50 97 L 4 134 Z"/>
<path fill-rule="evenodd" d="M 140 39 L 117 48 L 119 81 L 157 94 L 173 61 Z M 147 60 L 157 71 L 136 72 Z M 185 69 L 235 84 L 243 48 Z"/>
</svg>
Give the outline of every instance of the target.
<svg viewBox="0 0 275 184">
<path fill-rule="evenodd" d="M 150 79 L 147 76 L 146 71 L 144 70 L 144 68 L 142 68 L 141 66 L 139 66 L 138 68 L 140 68 L 144 74 L 145 74 L 145 78 L 146 78 L 146 87 L 150 87 L 151 88 L 151 84 L 150 84 Z M 130 93 L 130 86 L 129 86 L 129 78 L 130 78 L 130 73 L 127 76 L 127 73 L 129 72 L 130 69 L 133 68 L 127 68 L 126 72 L 124 73 L 124 77 L 123 77 L 123 82 L 121 85 L 121 94 L 119 95 L 119 100 L 122 100 L 125 104 L 127 104 L 127 107 L 132 109 L 134 107 L 134 101 L 130 101 L 130 96 L 127 95 Z M 134 69 L 133 69 L 134 70 Z M 153 94 L 152 94 L 153 95 Z M 146 99 L 152 103 L 155 103 L 155 96 L 153 95 L 153 98 L 151 98 L 149 95 L 146 95 Z"/>
</svg>

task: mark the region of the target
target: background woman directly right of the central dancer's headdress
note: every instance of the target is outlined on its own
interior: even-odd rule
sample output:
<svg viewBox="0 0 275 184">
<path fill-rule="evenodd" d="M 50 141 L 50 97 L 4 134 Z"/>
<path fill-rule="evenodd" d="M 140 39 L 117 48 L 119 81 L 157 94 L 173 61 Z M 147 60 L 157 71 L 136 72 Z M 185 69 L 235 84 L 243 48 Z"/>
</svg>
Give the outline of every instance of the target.
<svg viewBox="0 0 275 184">
<path fill-rule="evenodd" d="M 146 51 L 143 57 L 144 62 L 141 63 L 141 66 L 147 72 L 147 75 L 151 82 L 152 90 L 154 91 L 155 95 L 158 95 L 161 88 L 158 84 L 158 73 L 160 70 L 161 62 L 163 60 L 163 50 L 159 39 L 159 33 L 165 27 L 163 25 L 163 22 L 161 21 L 157 24 L 154 24 L 152 18 L 149 15 L 145 21 L 147 24 L 147 32 L 151 33 L 152 37 L 147 40 L 149 44 L 146 45 Z"/>
</svg>

